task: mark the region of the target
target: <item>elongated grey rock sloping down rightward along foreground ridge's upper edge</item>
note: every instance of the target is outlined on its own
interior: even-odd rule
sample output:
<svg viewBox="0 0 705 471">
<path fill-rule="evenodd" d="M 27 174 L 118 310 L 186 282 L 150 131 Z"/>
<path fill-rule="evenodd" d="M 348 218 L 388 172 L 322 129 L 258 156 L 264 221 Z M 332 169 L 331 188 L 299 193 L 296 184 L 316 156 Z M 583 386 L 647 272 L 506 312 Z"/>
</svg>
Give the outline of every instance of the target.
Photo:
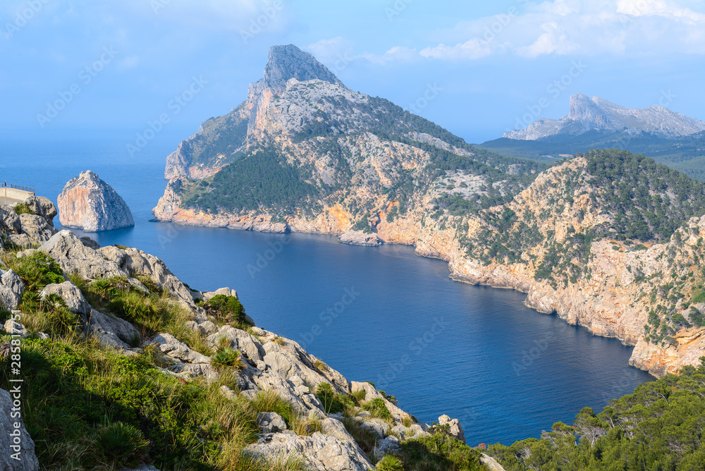
<svg viewBox="0 0 705 471">
<path fill-rule="evenodd" d="M 164 261 L 154 255 L 132 247 L 123 250 L 113 245 L 101 247 L 98 252 L 131 276 L 135 274 L 148 276 L 154 283 L 168 290 L 173 297 L 184 302 L 188 307 L 196 307 L 191 290 L 171 273 Z"/>
</svg>

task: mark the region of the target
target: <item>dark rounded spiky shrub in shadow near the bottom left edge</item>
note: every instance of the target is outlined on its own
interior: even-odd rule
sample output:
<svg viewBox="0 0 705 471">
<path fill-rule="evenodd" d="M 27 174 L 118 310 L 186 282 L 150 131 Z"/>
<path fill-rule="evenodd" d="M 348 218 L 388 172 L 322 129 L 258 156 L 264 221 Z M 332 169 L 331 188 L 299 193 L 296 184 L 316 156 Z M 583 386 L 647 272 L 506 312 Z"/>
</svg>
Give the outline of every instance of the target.
<svg viewBox="0 0 705 471">
<path fill-rule="evenodd" d="M 130 424 L 115 422 L 99 427 L 96 443 L 109 463 L 135 467 L 147 456 L 149 440 Z"/>
</svg>

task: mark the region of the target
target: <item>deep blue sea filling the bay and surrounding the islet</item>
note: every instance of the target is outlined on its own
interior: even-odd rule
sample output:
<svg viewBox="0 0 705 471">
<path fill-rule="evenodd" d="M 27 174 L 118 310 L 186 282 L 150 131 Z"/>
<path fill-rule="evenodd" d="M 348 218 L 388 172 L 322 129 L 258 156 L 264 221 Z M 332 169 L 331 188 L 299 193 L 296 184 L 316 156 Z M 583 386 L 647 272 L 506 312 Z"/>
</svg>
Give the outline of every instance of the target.
<svg viewBox="0 0 705 471">
<path fill-rule="evenodd" d="M 522 293 L 450 281 L 446 263 L 412 247 L 149 222 L 183 137 L 165 132 L 130 156 L 128 132 L 4 134 L 0 181 L 56 202 L 70 178 L 95 171 L 135 216 L 134 228 L 92 234 L 101 245 L 139 247 L 199 290 L 238 290 L 259 326 L 372 381 L 420 421 L 458 417 L 472 446 L 538 437 L 653 379 L 627 366 L 632 348 L 539 314 Z"/>
</svg>

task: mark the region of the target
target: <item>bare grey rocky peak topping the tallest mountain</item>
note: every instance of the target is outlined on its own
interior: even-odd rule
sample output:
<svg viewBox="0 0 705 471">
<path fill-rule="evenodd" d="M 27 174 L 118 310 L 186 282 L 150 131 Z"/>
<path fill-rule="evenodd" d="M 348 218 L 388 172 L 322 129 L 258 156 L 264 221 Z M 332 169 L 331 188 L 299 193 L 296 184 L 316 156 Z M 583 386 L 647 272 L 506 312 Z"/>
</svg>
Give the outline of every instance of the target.
<svg viewBox="0 0 705 471">
<path fill-rule="evenodd" d="M 286 90 L 286 82 L 292 78 L 300 82 L 318 79 L 341 87 L 345 86 L 314 56 L 295 45 L 272 46 L 264 68 L 264 84 L 275 94 L 282 94 Z"/>
</svg>

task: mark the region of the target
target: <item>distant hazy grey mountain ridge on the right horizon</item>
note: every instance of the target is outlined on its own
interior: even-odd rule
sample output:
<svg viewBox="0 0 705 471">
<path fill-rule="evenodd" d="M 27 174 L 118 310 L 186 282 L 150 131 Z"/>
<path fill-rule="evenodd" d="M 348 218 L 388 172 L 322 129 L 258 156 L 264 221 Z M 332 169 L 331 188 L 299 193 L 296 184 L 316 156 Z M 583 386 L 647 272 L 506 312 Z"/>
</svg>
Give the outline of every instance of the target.
<svg viewBox="0 0 705 471">
<path fill-rule="evenodd" d="M 522 130 L 504 133 L 515 140 L 539 140 L 553 135 L 580 135 L 591 130 L 603 133 L 650 133 L 682 137 L 705 130 L 705 121 L 690 118 L 663 106 L 630 109 L 600 97 L 582 93 L 570 97 L 570 113 L 560 119 L 540 118 Z"/>
</svg>

